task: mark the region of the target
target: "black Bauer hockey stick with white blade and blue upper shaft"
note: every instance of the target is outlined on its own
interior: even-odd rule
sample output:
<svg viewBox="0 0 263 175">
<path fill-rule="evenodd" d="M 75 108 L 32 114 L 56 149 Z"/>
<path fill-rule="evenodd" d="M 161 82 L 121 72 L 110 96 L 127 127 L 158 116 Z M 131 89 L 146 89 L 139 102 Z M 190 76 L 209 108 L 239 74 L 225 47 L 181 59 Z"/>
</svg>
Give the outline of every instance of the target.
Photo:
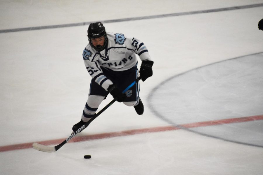
<svg viewBox="0 0 263 175">
<path fill-rule="evenodd" d="M 126 89 L 124 89 L 122 91 L 122 93 L 125 93 L 126 91 L 128 91 L 134 84 L 136 84 L 137 82 L 139 82 L 139 80 L 141 79 L 141 77 L 138 77 L 134 82 L 132 82 Z M 95 114 L 94 117 L 92 117 L 89 121 L 87 121 L 84 125 L 82 125 L 77 131 L 73 132 L 67 139 L 65 139 L 63 142 L 61 142 L 60 144 L 58 144 L 57 146 L 46 146 L 46 145 L 41 145 L 39 143 L 33 143 L 32 146 L 34 149 L 39 150 L 39 151 L 43 151 L 43 152 L 55 152 L 58 149 L 60 149 L 63 145 L 65 145 L 68 141 L 70 141 L 70 139 L 72 139 L 73 137 L 75 137 L 75 135 L 77 135 L 77 133 L 81 132 L 82 130 L 84 130 L 94 119 L 96 119 L 103 111 L 105 111 L 108 107 L 110 107 L 110 105 L 112 105 L 114 102 L 116 101 L 116 98 L 113 99 L 110 103 L 108 103 L 108 105 L 106 105 L 103 109 L 101 109 L 97 114 Z"/>
</svg>

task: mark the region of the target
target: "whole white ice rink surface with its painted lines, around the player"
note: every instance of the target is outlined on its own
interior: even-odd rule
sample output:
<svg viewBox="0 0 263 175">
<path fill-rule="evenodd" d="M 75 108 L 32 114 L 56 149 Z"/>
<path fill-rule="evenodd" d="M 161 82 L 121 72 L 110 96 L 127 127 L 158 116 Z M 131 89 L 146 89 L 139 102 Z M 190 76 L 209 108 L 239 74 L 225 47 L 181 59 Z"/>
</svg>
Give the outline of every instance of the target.
<svg viewBox="0 0 263 175">
<path fill-rule="evenodd" d="M 1 175 L 263 174 L 263 0 L 0 1 L 0 14 Z M 148 48 L 144 114 L 115 102 L 37 151 L 81 119 L 94 21 Z"/>
</svg>

